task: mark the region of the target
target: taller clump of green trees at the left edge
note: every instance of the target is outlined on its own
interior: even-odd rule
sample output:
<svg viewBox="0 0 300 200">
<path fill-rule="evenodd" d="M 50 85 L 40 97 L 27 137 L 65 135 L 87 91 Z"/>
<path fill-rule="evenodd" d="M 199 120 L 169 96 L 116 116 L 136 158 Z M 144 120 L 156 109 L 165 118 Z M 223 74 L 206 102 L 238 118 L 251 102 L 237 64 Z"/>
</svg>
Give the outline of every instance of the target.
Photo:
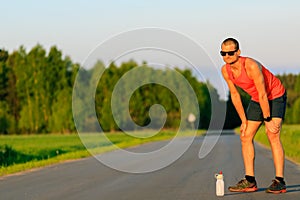
<svg viewBox="0 0 300 200">
<path fill-rule="evenodd" d="M 72 85 L 79 65 L 55 46 L 0 52 L 0 133 L 74 131 Z"/>
</svg>

